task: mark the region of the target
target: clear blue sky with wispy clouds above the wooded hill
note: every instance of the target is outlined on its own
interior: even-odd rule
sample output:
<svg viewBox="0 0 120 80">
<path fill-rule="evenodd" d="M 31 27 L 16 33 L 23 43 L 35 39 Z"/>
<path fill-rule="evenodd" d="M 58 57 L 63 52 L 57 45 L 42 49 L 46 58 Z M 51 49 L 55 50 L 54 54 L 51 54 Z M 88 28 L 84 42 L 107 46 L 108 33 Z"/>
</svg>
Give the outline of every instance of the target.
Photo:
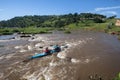
<svg viewBox="0 0 120 80">
<path fill-rule="evenodd" d="M 0 0 L 0 21 L 25 15 L 98 13 L 120 18 L 120 0 Z"/>
</svg>

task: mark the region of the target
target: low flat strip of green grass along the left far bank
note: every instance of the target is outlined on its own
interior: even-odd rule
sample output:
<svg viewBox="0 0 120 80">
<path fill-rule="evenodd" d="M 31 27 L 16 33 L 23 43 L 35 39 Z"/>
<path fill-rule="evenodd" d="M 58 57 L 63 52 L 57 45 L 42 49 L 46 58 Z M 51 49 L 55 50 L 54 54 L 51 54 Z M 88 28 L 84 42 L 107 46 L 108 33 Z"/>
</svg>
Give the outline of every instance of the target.
<svg viewBox="0 0 120 80">
<path fill-rule="evenodd" d="M 13 33 L 25 33 L 25 34 L 43 34 L 43 33 L 51 33 L 54 28 L 35 28 L 35 27 L 27 27 L 27 28 L 1 28 L 0 35 L 9 35 Z"/>
</svg>

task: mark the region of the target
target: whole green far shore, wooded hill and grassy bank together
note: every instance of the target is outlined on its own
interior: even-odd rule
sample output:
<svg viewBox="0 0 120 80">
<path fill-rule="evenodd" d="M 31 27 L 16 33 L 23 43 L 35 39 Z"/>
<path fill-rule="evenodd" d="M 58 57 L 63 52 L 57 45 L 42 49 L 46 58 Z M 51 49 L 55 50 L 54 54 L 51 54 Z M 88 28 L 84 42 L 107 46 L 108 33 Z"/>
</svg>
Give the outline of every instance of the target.
<svg viewBox="0 0 120 80">
<path fill-rule="evenodd" d="M 115 26 L 115 17 L 106 18 L 104 15 L 92 13 L 15 17 L 7 21 L 0 21 L 0 34 L 39 34 L 50 33 L 52 30 L 71 33 L 71 30 L 76 29 L 120 34 L 120 27 Z"/>
</svg>

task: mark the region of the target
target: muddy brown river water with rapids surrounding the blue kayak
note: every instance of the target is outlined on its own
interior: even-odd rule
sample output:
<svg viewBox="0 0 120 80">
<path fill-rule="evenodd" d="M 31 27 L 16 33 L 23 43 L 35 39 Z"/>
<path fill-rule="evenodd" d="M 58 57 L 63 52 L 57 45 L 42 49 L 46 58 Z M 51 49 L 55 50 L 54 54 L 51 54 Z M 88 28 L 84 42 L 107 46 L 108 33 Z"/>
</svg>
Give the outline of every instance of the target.
<svg viewBox="0 0 120 80">
<path fill-rule="evenodd" d="M 67 57 L 79 60 L 79 62 L 72 63 L 53 55 L 23 63 L 22 60 L 31 56 L 35 51 L 20 53 L 14 49 L 14 46 L 27 45 L 33 42 L 26 40 L 0 42 L 0 44 L 5 45 L 0 48 L 0 80 L 25 80 L 24 76 L 33 73 L 33 77 L 36 77 L 35 74 L 38 77 L 39 74 L 42 78 L 31 77 L 27 78 L 28 80 L 89 80 L 91 75 L 98 75 L 103 80 L 112 80 L 120 72 L 120 41 L 115 35 L 73 31 L 71 34 L 54 32 L 39 36 L 43 39 L 47 38 L 47 43 L 53 45 L 55 43 L 74 43 L 75 46 L 72 45 L 73 47 L 69 49 Z M 54 42 L 50 43 L 50 41 Z M 79 44 L 79 41 L 83 41 L 83 43 Z M 13 53 L 14 55 L 11 56 Z M 57 65 L 48 67 L 51 61 Z M 51 79 L 48 79 L 49 74 L 53 76 Z"/>
</svg>

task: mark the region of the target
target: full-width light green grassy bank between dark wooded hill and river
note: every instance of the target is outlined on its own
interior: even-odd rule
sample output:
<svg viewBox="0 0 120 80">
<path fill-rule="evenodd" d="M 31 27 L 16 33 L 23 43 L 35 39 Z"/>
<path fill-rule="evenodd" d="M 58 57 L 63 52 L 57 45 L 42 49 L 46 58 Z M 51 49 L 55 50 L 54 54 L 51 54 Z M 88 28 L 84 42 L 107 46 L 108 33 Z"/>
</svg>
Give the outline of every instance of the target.
<svg viewBox="0 0 120 80">
<path fill-rule="evenodd" d="M 72 23 L 63 27 L 26 27 L 26 28 L 0 28 L 0 34 L 13 34 L 13 33 L 26 33 L 26 34 L 41 34 L 50 33 L 52 30 L 62 30 L 65 33 L 71 33 L 72 30 L 88 30 L 88 31 L 101 31 L 106 33 L 120 34 L 120 27 L 115 26 L 116 19 L 107 19 L 104 23 L 95 23 L 92 20 L 79 21 L 78 23 Z M 112 25 L 109 26 L 109 24 Z"/>
</svg>

